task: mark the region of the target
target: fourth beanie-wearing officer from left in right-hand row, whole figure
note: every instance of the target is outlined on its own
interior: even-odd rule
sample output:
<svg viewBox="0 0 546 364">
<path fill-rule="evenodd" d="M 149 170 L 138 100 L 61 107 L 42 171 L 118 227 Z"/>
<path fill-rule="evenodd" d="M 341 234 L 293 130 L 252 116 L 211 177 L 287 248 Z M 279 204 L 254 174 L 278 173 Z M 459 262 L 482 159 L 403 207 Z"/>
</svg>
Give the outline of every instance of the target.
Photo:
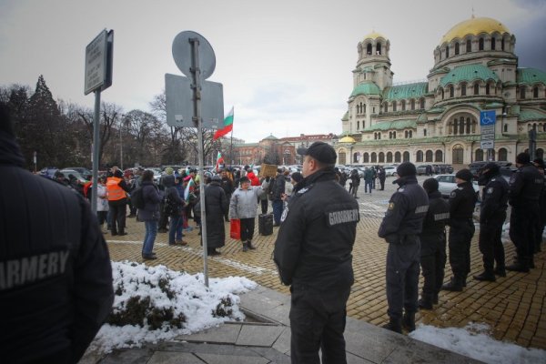
<svg viewBox="0 0 546 364">
<path fill-rule="evenodd" d="M 483 255 L 483 273 L 474 276 L 474 279 L 494 282 L 495 275 L 506 277 L 501 235 L 508 207 L 508 182 L 501 176 L 499 165 L 490 162 L 482 168 L 478 184 L 484 186 L 480 205 L 479 242 Z M 495 262 L 497 268 L 494 268 Z"/>
</svg>

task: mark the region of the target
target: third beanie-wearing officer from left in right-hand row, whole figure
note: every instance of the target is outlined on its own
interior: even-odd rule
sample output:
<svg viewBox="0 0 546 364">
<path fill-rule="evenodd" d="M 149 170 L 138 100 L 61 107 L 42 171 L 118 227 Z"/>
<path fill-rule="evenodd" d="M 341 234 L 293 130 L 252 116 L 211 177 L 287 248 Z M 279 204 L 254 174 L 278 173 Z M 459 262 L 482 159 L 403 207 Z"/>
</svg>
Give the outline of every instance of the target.
<svg viewBox="0 0 546 364">
<path fill-rule="evenodd" d="M 470 241 L 474 236 L 472 215 L 478 197 L 472 187 L 472 172 L 461 169 L 455 175 L 455 188 L 450 194 L 450 266 L 453 277 L 441 288 L 461 291 L 470 273 Z"/>
</svg>

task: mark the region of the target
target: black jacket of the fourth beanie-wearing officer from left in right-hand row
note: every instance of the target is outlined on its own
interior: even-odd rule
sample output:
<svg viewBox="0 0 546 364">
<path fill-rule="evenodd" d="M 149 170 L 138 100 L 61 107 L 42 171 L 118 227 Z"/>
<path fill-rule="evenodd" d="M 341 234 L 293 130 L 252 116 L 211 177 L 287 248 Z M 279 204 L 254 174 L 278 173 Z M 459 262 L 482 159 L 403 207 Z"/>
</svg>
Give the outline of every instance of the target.
<svg viewBox="0 0 546 364">
<path fill-rule="evenodd" d="M 480 205 L 480 224 L 504 221 L 508 207 L 508 182 L 500 175 L 490 178 L 483 187 Z M 500 221 L 499 221 L 500 222 Z"/>
</svg>

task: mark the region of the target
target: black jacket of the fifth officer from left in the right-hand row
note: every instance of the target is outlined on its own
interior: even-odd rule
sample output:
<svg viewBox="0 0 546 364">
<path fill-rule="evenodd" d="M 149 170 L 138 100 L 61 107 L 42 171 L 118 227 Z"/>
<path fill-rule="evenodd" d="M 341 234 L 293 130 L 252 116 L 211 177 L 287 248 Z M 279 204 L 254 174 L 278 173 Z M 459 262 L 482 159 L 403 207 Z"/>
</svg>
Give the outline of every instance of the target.
<svg viewBox="0 0 546 364">
<path fill-rule="evenodd" d="M 538 204 L 544 177 L 531 164 L 522 166 L 511 175 L 509 201 L 513 207 L 526 207 L 528 204 Z"/>
</svg>

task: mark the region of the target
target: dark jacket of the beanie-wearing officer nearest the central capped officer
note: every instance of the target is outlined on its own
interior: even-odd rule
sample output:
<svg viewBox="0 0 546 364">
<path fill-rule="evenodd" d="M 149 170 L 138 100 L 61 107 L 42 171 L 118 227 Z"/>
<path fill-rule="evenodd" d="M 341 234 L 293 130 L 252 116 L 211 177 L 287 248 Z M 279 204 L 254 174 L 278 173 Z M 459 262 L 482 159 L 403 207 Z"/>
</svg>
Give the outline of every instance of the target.
<svg viewBox="0 0 546 364">
<path fill-rule="evenodd" d="M 399 189 L 390 197 L 378 232 L 389 243 L 403 243 L 404 237 L 420 234 L 429 210 L 429 197 L 415 176 L 400 177 L 396 183 Z"/>
</svg>

